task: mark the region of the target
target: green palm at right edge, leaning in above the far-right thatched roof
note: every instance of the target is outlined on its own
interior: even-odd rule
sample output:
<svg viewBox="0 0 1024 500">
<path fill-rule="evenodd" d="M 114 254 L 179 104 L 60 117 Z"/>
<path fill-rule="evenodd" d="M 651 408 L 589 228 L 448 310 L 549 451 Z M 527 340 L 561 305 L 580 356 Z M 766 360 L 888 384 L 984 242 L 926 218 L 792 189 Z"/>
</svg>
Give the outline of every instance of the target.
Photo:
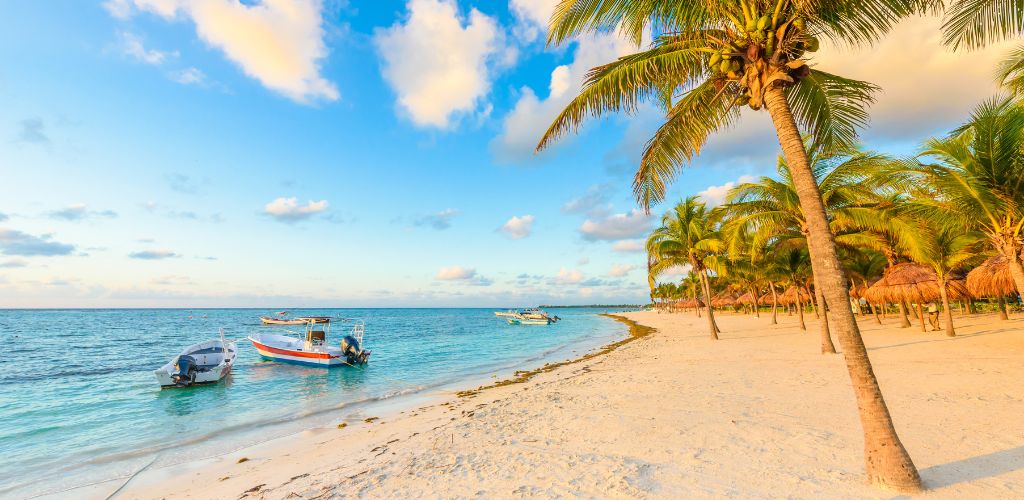
<svg viewBox="0 0 1024 500">
<path fill-rule="evenodd" d="M 904 168 L 897 180 L 923 190 L 914 215 L 982 232 L 1024 297 L 1024 109 L 988 99 L 951 135 L 928 140 L 920 158 L 926 163 Z"/>
</svg>

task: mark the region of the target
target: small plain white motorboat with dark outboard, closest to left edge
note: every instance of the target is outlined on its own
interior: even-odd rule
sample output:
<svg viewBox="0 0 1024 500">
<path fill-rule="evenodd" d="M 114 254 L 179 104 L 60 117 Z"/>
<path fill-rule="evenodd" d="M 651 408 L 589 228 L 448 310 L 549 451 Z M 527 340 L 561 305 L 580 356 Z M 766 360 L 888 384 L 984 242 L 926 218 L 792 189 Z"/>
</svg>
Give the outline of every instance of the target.
<svg viewBox="0 0 1024 500">
<path fill-rule="evenodd" d="M 234 342 L 225 341 L 221 331 L 220 339 L 189 345 L 153 373 L 161 387 L 215 383 L 231 373 L 237 356 Z"/>
</svg>

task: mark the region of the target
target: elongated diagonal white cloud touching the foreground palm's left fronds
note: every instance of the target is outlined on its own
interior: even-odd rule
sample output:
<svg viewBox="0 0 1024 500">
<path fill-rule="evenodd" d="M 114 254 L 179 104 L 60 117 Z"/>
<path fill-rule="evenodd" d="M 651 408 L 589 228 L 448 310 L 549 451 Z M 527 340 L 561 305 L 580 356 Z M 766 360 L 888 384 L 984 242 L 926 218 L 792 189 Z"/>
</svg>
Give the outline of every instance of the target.
<svg viewBox="0 0 1024 500">
<path fill-rule="evenodd" d="M 505 117 L 501 134 L 490 142 L 492 153 L 505 163 L 527 162 L 541 135 L 582 88 L 587 72 L 636 50 L 635 45 L 613 33 L 581 39 L 577 42 L 572 62 L 551 72 L 547 97 L 539 97 L 529 87 L 520 89 L 519 100 Z"/>
</svg>

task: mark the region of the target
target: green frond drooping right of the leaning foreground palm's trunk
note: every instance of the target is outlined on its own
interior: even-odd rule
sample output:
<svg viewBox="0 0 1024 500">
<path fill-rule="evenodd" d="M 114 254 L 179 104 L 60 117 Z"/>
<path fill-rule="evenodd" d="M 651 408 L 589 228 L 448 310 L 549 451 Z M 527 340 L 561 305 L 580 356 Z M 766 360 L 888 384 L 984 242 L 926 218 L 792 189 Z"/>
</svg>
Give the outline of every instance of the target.
<svg viewBox="0 0 1024 500">
<path fill-rule="evenodd" d="M 786 89 L 786 99 L 801 129 L 826 151 L 856 145 L 857 129 L 867 125 L 867 108 L 879 88 L 867 82 L 811 70 Z"/>
</svg>

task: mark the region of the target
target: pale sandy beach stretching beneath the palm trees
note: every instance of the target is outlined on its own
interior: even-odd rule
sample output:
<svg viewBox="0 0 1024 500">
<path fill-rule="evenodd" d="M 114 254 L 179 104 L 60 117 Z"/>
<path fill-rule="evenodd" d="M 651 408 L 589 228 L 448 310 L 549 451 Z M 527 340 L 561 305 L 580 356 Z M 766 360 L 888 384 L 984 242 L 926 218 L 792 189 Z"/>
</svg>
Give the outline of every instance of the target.
<svg viewBox="0 0 1024 500">
<path fill-rule="evenodd" d="M 864 484 L 847 373 L 813 315 L 802 333 L 722 314 L 719 341 L 692 312 L 625 316 L 657 331 L 524 383 L 147 470 L 119 498 L 891 496 Z M 1024 319 L 956 321 L 955 338 L 861 328 L 923 496 L 1021 498 Z"/>
</svg>

